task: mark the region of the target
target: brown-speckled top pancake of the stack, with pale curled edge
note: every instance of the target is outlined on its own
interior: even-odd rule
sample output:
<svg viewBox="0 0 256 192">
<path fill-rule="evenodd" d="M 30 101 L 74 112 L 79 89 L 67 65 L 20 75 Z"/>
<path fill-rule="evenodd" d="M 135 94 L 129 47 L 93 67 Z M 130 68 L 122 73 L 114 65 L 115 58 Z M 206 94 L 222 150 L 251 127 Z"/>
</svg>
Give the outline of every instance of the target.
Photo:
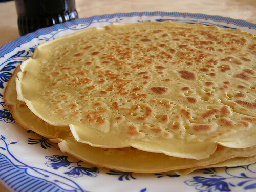
<svg viewBox="0 0 256 192">
<path fill-rule="evenodd" d="M 179 22 L 112 24 L 39 45 L 18 99 L 79 142 L 203 159 L 256 144 L 252 34 Z"/>
</svg>

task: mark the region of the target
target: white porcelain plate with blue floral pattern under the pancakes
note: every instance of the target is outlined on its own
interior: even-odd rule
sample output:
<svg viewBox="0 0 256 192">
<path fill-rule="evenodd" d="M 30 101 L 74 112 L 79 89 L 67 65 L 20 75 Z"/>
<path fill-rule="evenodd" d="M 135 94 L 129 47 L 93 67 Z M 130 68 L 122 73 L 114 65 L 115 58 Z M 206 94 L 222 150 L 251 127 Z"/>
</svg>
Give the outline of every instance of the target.
<svg viewBox="0 0 256 192">
<path fill-rule="evenodd" d="M 24 130 L 3 101 L 14 69 L 37 45 L 81 29 L 113 22 L 164 20 L 236 28 L 256 35 L 256 24 L 205 14 L 134 12 L 81 18 L 39 29 L 0 48 L 0 181 L 10 191 L 256 191 L 256 164 L 197 170 L 187 176 L 117 172 L 81 162 L 58 151 L 48 140 Z"/>
</svg>

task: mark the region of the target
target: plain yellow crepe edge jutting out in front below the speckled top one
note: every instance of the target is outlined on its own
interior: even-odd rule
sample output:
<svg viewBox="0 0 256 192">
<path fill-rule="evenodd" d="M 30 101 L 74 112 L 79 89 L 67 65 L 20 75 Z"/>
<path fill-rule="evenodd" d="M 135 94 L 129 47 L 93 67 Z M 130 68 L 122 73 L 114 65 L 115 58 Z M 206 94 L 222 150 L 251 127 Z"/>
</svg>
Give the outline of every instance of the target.
<svg viewBox="0 0 256 192">
<path fill-rule="evenodd" d="M 193 167 L 188 169 L 189 171 L 186 170 L 191 173 L 196 169 L 200 169 L 200 167 L 215 167 L 217 162 L 222 161 L 221 166 L 229 166 L 230 162 L 225 160 L 234 157 L 240 157 L 240 162 L 237 162 L 237 164 L 244 165 L 245 163 L 247 164 L 246 159 L 248 156 L 256 154 L 255 146 L 245 149 L 219 146 L 214 154 L 207 159 L 185 159 L 141 151 L 131 147 L 119 149 L 92 147 L 88 144 L 77 142 L 72 136 L 62 139 L 58 146 L 62 152 L 66 152 L 84 162 L 133 173 L 160 173 L 174 170 L 176 173 L 183 173 L 184 175 L 183 169 L 186 169 L 186 167 Z M 245 160 L 244 162 L 243 159 Z M 254 157 L 254 159 L 248 161 L 248 164 L 255 161 Z M 219 166 L 218 164 L 216 165 L 216 167 Z M 181 170 L 181 172 L 177 170 Z"/>
</svg>

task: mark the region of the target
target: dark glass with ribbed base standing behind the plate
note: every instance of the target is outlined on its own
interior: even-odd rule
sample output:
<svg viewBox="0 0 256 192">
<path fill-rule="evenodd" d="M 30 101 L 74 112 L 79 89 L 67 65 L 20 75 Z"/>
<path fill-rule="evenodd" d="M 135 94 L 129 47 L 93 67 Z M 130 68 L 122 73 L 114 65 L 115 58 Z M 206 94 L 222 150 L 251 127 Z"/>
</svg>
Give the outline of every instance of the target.
<svg viewBox="0 0 256 192">
<path fill-rule="evenodd" d="M 20 35 L 78 18 L 75 0 L 15 0 Z"/>
</svg>

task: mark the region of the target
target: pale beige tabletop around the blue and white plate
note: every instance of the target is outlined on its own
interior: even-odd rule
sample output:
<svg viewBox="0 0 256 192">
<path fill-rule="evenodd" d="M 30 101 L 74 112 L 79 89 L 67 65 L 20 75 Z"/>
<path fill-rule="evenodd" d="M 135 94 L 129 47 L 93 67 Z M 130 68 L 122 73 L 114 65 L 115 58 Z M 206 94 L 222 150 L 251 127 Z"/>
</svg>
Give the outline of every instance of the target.
<svg viewBox="0 0 256 192">
<path fill-rule="evenodd" d="M 135 11 L 204 13 L 256 23 L 255 0 L 76 0 L 79 18 Z M 19 37 L 14 1 L 0 3 L 0 47 Z M 8 191 L 0 184 L 0 191 Z"/>
</svg>

